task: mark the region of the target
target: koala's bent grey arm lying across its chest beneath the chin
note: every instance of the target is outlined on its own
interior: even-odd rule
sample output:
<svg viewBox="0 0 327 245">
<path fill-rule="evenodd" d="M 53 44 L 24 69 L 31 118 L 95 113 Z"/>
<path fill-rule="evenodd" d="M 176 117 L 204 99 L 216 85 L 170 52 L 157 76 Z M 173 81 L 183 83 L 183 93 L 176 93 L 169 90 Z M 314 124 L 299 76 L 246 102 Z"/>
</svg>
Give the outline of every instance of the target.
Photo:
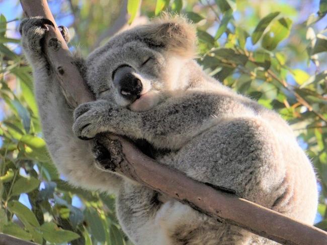
<svg viewBox="0 0 327 245">
<path fill-rule="evenodd" d="M 251 113 L 231 95 L 203 91 L 171 97 L 144 112 L 114 106 L 106 100 L 81 104 L 75 110 L 74 133 L 84 139 L 109 131 L 146 139 L 155 147 L 179 149 L 219 120 Z"/>
</svg>

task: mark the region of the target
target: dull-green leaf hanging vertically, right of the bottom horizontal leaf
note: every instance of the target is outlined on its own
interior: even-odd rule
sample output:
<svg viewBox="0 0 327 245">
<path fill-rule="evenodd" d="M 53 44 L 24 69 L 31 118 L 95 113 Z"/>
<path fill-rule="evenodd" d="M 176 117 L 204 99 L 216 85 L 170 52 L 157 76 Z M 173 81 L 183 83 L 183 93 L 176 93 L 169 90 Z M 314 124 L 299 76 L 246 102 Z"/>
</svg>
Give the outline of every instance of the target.
<svg viewBox="0 0 327 245">
<path fill-rule="evenodd" d="M 85 220 L 91 229 L 91 234 L 95 236 L 98 241 L 106 240 L 106 232 L 102 225 L 102 219 L 100 218 L 98 212 L 90 207 L 85 210 Z"/>
</svg>

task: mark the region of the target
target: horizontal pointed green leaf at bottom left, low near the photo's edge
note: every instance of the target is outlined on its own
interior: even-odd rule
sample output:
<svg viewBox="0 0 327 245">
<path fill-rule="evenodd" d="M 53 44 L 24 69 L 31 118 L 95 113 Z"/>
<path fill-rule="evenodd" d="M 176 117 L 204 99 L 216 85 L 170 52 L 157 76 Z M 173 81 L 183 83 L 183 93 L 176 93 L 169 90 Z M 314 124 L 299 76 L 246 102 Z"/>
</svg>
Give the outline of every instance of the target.
<svg viewBox="0 0 327 245">
<path fill-rule="evenodd" d="M 61 229 L 53 222 L 42 224 L 40 230 L 44 239 L 51 243 L 62 243 L 79 238 L 75 232 Z"/>
</svg>

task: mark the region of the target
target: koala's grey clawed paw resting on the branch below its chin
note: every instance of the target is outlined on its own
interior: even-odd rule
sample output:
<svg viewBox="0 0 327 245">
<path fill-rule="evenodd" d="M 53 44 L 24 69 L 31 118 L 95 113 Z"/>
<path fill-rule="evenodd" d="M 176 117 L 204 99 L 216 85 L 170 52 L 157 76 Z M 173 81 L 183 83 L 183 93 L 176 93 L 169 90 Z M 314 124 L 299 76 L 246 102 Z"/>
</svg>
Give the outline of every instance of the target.
<svg viewBox="0 0 327 245">
<path fill-rule="evenodd" d="M 80 104 L 74 110 L 74 124 L 72 130 L 81 140 L 93 139 L 102 133 L 103 125 L 108 117 L 110 106 L 104 100 Z"/>
</svg>

